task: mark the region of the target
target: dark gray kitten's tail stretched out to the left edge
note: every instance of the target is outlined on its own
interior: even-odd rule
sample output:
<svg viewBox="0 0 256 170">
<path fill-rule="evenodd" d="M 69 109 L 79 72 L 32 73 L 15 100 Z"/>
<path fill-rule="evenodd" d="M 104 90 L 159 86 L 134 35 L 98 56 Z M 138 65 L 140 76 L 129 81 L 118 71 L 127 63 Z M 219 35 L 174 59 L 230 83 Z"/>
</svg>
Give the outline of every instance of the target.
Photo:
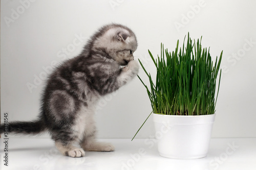
<svg viewBox="0 0 256 170">
<path fill-rule="evenodd" d="M 10 122 L 0 125 L 0 134 L 27 134 L 36 135 L 46 130 L 45 123 L 42 120 L 34 120 L 31 122 Z"/>
</svg>

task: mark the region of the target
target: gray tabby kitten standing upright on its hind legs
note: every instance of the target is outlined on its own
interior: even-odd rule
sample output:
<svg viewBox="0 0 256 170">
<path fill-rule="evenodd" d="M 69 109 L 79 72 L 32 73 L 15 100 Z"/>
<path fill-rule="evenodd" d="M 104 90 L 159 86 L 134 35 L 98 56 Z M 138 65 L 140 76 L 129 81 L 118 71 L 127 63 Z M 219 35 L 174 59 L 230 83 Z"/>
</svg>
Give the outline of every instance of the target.
<svg viewBox="0 0 256 170">
<path fill-rule="evenodd" d="M 137 75 L 139 64 L 133 57 L 136 48 L 136 36 L 129 28 L 117 24 L 102 27 L 80 55 L 52 72 L 42 93 L 38 119 L 11 122 L 8 127 L 2 124 L 0 134 L 47 131 L 57 149 L 71 157 L 82 157 L 84 151 L 114 151 L 112 144 L 95 140 L 94 110 L 102 96 Z M 74 146 L 76 142 L 81 148 Z"/>
</svg>

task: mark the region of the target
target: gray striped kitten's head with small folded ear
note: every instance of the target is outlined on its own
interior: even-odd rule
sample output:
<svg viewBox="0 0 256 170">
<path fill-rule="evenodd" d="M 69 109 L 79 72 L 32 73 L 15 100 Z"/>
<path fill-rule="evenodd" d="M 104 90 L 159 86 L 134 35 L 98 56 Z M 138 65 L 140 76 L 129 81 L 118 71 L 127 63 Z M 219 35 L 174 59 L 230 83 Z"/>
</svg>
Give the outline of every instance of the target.
<svg viewBox="0 0 256 170">
<path fill-rule="evenodd" d="M 102 51 L 117 61 L 120 65 L 126 65 L 134 60 L 133 53 L 137 49 L 135 34 L 129 28 L 122 25 L 107 25 L 96 34 L 93 42 L 93 51 Z"/>
</svg>

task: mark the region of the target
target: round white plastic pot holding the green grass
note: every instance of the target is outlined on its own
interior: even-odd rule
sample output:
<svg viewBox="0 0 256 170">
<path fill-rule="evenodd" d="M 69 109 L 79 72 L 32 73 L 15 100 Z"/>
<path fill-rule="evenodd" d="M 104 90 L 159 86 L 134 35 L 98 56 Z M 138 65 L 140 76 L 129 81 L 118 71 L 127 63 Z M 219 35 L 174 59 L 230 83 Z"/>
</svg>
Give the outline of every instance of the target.
<svg viewBox="0 0 256 170">
<path fill-rule="evenodd" d="M 205 157 L 215 115 L 180 116 L 154 113 L 159 154 L 175 159 Z"/>
</svg>

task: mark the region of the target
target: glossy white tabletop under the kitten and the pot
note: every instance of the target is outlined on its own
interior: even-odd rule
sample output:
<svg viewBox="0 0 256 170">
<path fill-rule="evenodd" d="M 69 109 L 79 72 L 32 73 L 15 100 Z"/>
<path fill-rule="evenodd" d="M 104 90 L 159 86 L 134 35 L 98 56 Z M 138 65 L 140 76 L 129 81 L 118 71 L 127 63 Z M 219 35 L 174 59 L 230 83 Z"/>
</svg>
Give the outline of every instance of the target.
<svg viewBox="0 0 256 170">
<path fill-rule="evenodd" d="M 256 169 L 256 138 L 212 138 L 207 157 L 181 160 L 159 156 L 155 139 L 99 139 L 114 152 L 86 152 L 82 158 L 62 156 L 46 138 L 1 138 L 1 169 Z M 5 154 L 8 154 L 8 166 Z"/>
</svg>

